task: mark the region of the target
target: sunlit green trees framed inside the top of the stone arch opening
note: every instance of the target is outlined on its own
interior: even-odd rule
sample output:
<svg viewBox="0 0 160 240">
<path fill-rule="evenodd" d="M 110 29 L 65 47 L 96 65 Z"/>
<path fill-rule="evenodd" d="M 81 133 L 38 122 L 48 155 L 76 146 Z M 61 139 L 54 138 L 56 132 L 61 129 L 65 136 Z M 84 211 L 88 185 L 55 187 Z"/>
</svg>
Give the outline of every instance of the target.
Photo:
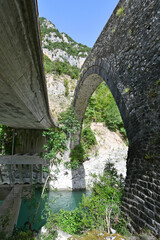
<svg viewBox="0 0 160 240">
<path fill-rule="evenodd" d="M 93 93 L 86 109 L 84 125 L 89 125 L 92 121 L 104 122 L 110 130 L 118 130 L 126 139 L 117 104 L 105 82 L 102 82 Z"/>
</svg>

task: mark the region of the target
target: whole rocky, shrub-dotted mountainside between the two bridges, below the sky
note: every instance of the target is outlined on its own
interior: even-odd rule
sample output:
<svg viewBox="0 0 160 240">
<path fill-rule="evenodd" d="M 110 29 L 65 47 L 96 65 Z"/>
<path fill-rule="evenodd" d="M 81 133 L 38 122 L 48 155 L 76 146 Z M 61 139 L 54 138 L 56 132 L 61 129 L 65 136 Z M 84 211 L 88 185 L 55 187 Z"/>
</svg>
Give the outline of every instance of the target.
<svg viewBox="0 0 160 240">
<path fill-rule="evenodd" d="M 51 113 L 57 121 L 73 100 L 80 67 L 90 48 L 60 33 L 46 18 L 40 18 L 44 68 Z"/>
</svg>

